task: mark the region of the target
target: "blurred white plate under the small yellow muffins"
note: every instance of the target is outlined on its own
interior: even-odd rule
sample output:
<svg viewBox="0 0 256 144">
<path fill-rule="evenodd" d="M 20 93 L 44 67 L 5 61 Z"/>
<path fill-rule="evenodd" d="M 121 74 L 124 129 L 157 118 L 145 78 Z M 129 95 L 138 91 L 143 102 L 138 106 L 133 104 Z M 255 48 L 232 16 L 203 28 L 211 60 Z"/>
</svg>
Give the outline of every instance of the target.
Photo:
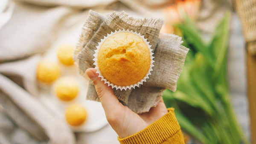
<svg viewBox="0 0 256 144">
<path fill-rule="evenodd" d="M 64 66 L 58 62 L 58 58 L 57 58 L 57 50 L 59 46 L 65 45 L 65 44 L 71 44 L 73 46 L 76 46 L 76 43 L 78 42 L 78 39 L 79 39 L 79 35 L 81 34 L 81 29 L 83 24 L 84 23 L 76 24 L 67 32 L 65 32 L 64 35 L 59 37 L 55 41 L 55 43 L 52 45 L 52 47 L 42 57 L 42 59 L 47 59 L 52 62 L 58 63 L 60 65 L 61 76 L 59 78 L 63 76 L 72 76 L 74 79 L 76 79 L 76 81 L 78 81 L 79 95 L 73 101 L 61 102 L 55 96 L 55 92 L 53 90 L 53 86 L 54 86 L 54 83 L 53 83 L 52 86 L 49 86 L 49 87 L 43 86 L 40 88 L 40 93 L 41 93 L 40 99 L 44 103 L 44 105 L 47 108 L 49 108 L 51 112 L 62 121 L 66 121 L 64 118 L 64 111 L 69 104 L 73 102 L 82 104 L 87 110 L 87 121 L 85 121 L 84 124 L 79 128 L 71 127 L 69 124 L 67 125 L 69 125 L 70 129 L 72 129 L 75 132 L 78 132 L 78 131 L 93 132 L 101 129 L 106 124 L 108 124 L 108 121 L 106 120 L 106 117 L 105 117 L 104 109 L 102 108 L 102 105 L 100 102 L 86 100 L 88 81 L 86 81 L 84 78 L 82 78 L 78 74 L 78 72 L 76 71 L 76 67 Z M 40 84 L 39 84 L 39 87 L 40 87 Z"/>
</svg>

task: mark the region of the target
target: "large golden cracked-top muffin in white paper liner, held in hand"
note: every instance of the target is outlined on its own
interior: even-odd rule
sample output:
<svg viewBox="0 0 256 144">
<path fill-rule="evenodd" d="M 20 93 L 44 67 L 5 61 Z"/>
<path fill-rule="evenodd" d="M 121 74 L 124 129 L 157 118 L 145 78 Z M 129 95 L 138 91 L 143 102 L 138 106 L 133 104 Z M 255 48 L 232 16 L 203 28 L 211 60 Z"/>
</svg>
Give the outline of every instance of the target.
<svg viewBox="0 0 256 144">
<path fill-rule="evenodd" d="M 118 86 L 136 84 L 150 68 L 150 52 L 145 41 L 132 33 L 120 32 L 108 37 L 97 57 L 99 71 Z"/>
</svg>

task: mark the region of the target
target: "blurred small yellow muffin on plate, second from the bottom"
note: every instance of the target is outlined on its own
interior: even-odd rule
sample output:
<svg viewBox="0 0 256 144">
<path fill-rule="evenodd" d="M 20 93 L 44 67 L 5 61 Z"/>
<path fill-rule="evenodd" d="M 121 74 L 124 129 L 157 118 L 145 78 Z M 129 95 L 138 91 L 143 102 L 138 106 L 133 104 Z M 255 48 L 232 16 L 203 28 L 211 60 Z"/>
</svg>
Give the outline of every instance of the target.
<svg viewBox="0 0 256 144">
<path fill-rule="evenodd" d="M 61 101 L 71 101 L 78 93 L 78 83 L 71 77 L 60 78 L 55 84 L 55 94 Z"/>
</svg>

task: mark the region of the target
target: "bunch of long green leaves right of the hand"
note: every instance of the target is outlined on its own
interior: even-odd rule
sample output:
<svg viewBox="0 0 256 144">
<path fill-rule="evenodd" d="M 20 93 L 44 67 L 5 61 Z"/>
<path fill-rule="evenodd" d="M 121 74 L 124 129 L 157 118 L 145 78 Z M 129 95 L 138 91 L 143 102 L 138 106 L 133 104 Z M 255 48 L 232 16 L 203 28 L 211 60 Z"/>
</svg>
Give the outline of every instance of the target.
<svg viewBox="0 0 256 144">
<path fill-rule="evenodd" d="M 229 24 L 227 12 L 209 44 L 188 17 L 185 23 L 177 25 L 183 33 L 183 45 L 190 51 L 177 82 L 177 92 L 166 90 L 163 95 L 166 105 L 176 108 L 180 126 L 206 144 L 247 143 L 228 97 Z"/>
</svg>

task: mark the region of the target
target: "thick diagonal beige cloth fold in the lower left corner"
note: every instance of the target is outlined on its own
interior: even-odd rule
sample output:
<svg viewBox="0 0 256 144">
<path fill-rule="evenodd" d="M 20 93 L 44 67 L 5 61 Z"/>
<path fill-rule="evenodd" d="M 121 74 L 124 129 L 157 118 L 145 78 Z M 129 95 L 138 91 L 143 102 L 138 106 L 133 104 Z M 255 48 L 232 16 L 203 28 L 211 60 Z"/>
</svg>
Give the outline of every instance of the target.
<svg viewBox="0 0 256 144">
<path fill-rule="evenodd" d="M 6 101 L 2 104 L 3 108 L 7 109 L 8 112 L 16 109 L 16 115 L 14 112 L 12 112 L 12 115 L 24 129 L 28 130 L 30 128 L 29 132 L 41 140 L 48 136 L 49 144 L 75 143 L 74 135 L 67 125 L 51 115 L 37 99 L 31 98 L 29 93 L 3 75 L 0 75 L 0 81 L 0 91 L 3 92 L 0 98 Z M 24 104 L 23 101 L 27 101 L 27 103 Z M 22 109 L 11 106 L 22 107 Z M 25 111 L 24 114 L 22 114 L 23 111 Z M 26 115 L 29 115 L 29 117 L 26 117 Z M 18 120 L 19 118 L 23 122 Z"/>
</svg>

